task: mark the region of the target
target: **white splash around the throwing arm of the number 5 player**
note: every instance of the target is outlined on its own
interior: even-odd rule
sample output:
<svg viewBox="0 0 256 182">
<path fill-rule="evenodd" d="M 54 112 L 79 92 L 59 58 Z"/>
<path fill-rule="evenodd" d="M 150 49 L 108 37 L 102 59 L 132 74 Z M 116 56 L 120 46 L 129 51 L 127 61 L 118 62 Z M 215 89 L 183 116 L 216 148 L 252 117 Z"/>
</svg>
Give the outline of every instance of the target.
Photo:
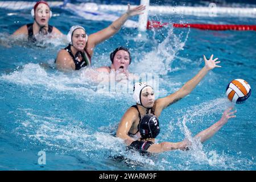
<svg viewBox="0 0 256 182">
<path fill-rule="evenodd" d="M 205 151 L 203 144 L 200 142 L 200 138 L 195 138 L 195 134 L 192 134 L 187 126 L 187 123 L 204 122 L 204 119 L 200 118 L 212 115 L 213 113 L 222 113 L 222 111 L 226 109 L 229 104 L 230 102 L 225 98 L 217 98 L 177 111 L 178 113 L 184 114 L 180 118 L 177 118 L 177 121 L 171 121 L 169 127 L 173 128 L 172 123 L 175 123 L 175 125 L 180 128 L 181 133 L 185 135 L 185 139 L 188 139 L 189 142 L 191 142 L 189 151 L 182 152 L 185 157 L 192 158 L 193 162 L 196 162 L 197 164 L 208 164 L 209 166 L 221 166 L 224 168 L 230 167 L 226 164 L 226 162 L 229 160 L 228 156 L 224 154 L 219 155 L 216 151 Z M 211 123 L 217 122 L 218 119 L 216 119 L 216 121 L 212 121 Z M 168 137 L 166 138 L 168 139 Z M 187 164 L 187 166 L 190 165 L 191 164 Z"/>
</svg>

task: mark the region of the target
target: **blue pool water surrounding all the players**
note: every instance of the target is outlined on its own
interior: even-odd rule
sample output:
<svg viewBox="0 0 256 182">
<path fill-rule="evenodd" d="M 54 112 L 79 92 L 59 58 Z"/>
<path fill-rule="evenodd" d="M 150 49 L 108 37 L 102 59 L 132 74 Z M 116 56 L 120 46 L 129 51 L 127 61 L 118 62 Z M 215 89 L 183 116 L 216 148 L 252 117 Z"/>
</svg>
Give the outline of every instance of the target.
<svg viewBox="0 0 256 182">
<path fill-rule="evenodd" d="M 10 14 L 15 13 L 15 14 Z M 84 20 L 61 9 L 51 24 L 67 34 L 81 24 L 88 34 L 110 22 Z M 136 18 L 134 18 L 135 20 Z M 255 18 L 154 15 L 150 19 L 179 23 L 256 24 Z M 237 117 L 204 144 L 193 141 L 189 151 L 170 151 L 150 158 L 125 151 L 112 136 L 125 111 L 134 104 L 130 93 L 98 93 L 86 74 L 92 68 L 59 72 L 53 61 L 65 39 L 38 47 L 8 36 L 31 22 L 28 10 L 0 11 L 0 169 L 1 170 L 255 170 L 256 88 L 255 31 L 202 31 L 172 26 L 145 33 L 122 28 L 99 44 L 93 68 L 110 65 L 117 46 L 131 50 L 130 72 L 155 73 L 159 97 L 167 96 L 204 66 L 203 54 L 214 54 L 222 68 L 210 71 L 189 96 L 171 105 L 160 116 L 157 142 L 191 138 L 221 118 L 230 105 L 225 96 L 236 78 L 249 82 L 250 98 L 236 105 Z M 142 38 L 138 38 L 142 34 Z M 132 83 L 130 83 L 132 85 Z M 46 164 L 38 164 L 38 152 Z M 114 159 L 125 156 L 125 160 Z"/>
</svg>

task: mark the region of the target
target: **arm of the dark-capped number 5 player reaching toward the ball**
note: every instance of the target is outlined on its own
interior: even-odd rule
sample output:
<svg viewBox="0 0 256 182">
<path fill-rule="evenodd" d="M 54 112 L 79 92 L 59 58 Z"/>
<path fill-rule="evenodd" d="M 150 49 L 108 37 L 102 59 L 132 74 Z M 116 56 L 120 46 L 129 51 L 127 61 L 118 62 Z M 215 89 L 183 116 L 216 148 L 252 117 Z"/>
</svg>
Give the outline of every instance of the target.
<svg viewBox="0 0 256 182">
<path fill-rule="evenodd" d="M 228 122 L 228 119 L 236 117 L 236 115 L 233 115 L 237 111 L 231 111 L 233 108 L 229 107 L 229 109 L 225 110 L 222 114 L 222 117 L 219 121 L 214 123 L 212 126 L 208 127 L 208 129 L 205 129 L 201 131 L 199 134 L 195 136 L 195 138 L 200 138 L 200 142 L 203 143 L 205 140 L 208 140 L 211 138 L 214 134 L 217 133 L 218 130 L 221 129 L 222 126 L 225 125 L 226 122 Z M 171 151 L 171 150 L 186 150 L 188 146 L 191 145 L 191 142 L 189 140 L 185 139 L 182 142 L 172 143 L 172 142 L 162 142 L 159 144 L 152 144 L 148 148 L 148 152 L 164 152 L 164 151 Z"/>
</svg>

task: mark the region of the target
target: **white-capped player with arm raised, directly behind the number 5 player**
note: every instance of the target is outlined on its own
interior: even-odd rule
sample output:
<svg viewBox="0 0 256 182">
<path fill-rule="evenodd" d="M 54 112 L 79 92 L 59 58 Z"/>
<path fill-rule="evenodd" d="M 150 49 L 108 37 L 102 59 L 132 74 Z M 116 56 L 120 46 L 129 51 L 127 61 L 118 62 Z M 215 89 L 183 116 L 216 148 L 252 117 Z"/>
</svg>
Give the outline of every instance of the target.
<svg viewBox="0 0 256 182">
<path fill-rule="evenodd" d="M 217 65 L 220 63 L 220 61 L 217 60 L 218 58 L 213 60 L 213 55 L 210 56 L 209 60 L 204 56 L 205 66 L 195 77 L 186 82 L 182 88 L 175 93 L 172 93 L 167 97 L 159 98 L 156 101 L 154 90 L 150 85 L 146 82 L 135 83 L 133 98 L 137 102 L 137 105 L 131 106 L 123 115 L 121 122 L 118 125 L 117 137 L 127 140 L 128 142 L 133 142 L 136 138 L 141 137 L 138 125 L 141 122 L 143 115 L 153 114 L 156 117 L 159 117 L 163 109 L 191 93 L 203 77 L 207 75 L 208 71 L 216 67 L 221 67 L 220 65 Z"/>
</svg>

